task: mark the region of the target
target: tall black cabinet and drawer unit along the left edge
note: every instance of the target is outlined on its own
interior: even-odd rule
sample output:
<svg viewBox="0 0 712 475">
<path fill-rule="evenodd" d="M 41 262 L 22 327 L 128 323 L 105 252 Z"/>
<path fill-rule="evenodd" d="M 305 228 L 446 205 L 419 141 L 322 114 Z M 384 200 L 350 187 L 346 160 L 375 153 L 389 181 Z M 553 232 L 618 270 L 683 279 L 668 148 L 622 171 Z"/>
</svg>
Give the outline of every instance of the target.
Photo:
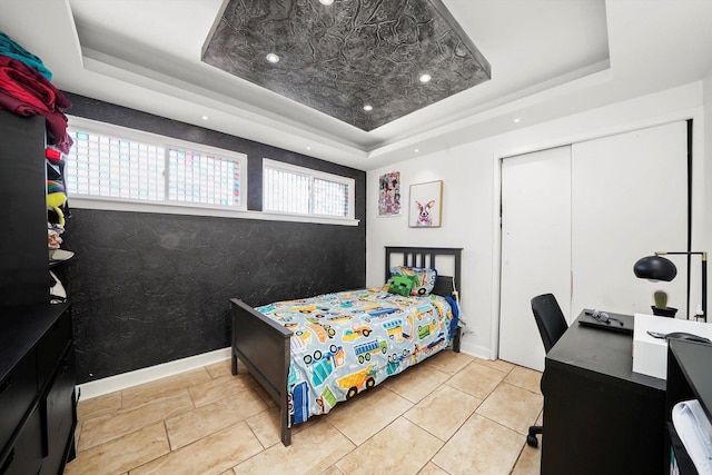
<svg viewBox="0 0 712 475">
<path fill-rule="evenodd" d="M 0 475 L 63 472 L 75 456 L 70 304 L 51 304 L 46 121 L 0 110 Z"/>
</svg>

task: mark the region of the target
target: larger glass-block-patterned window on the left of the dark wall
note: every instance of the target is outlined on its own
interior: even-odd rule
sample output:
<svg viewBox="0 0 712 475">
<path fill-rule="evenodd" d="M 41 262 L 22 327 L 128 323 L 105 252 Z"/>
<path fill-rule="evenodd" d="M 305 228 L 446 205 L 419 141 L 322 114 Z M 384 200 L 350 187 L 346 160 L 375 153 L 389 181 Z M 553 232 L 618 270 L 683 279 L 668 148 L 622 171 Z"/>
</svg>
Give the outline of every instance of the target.
<svg viewBox="0 0 712 475">
<path fill-rule="evenodd" d="M 70 122 L 69 133 L 71 196 L 245 209 L 245 156 L 108 125 Z"/>
</svg>

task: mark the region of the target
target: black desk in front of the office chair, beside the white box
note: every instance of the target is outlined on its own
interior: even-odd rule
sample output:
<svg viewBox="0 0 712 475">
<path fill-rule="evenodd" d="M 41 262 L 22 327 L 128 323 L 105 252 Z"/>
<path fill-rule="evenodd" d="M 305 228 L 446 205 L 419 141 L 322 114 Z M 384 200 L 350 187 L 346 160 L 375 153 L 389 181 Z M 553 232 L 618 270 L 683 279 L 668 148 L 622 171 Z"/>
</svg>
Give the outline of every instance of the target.
<svg viewBox="0 0 712 475">
<path fill-rule="evenodd" d="M 665 382 L 633 373 L 632 346 L 632 335 L 576 319 L 548 352 L 542 474 L 666 471 Z"/>
</svg>

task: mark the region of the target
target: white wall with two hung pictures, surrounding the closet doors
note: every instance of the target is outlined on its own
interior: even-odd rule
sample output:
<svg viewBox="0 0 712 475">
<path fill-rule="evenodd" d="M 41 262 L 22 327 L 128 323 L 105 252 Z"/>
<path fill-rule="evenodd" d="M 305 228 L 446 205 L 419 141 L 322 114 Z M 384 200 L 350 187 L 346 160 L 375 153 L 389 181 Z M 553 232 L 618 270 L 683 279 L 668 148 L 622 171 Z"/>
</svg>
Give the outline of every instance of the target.
<svg viewBox="0 0 712 475">
<path fill-rule="evenodd" d="M 712 78 L 708 83 L 712 83 Z M 709 99 L 711 96 L 709 91 L 706 96 Z M 708 112 L 711 108 L 708 103 Z M 414 158 L 411 160 L 369 171 L 366 187 L 368 194 L 366 200 L 367 285 L 383 284 L 384 246 L 464 248 L 461 294 L 463 318 L 467 328 L 463 339 L 463 350 L 485 358 L 496 357 L 500 299 L 500 159 L 693 118 L 694 169 L 695 172 L 703 171 L 705 130 L 703 115 L 703 82 L 698 81 L 532 127 L 526 127 L 526 119 L 523 118 L 518 125 L 513 123 L 512 132 L 447 148 L 423 157 L 416 157 L 417 154 L 414 152 Z M 467 130 L 463 130 L 462 133 L 467 133 Z M 712 136 L 709 130 L 708 135 Z M 400 172 L 404 209 L 400 217 L 382 218 L 377 216 L 378 177 L 389 171 Z M 409 186 L 432 180 L 444 181 L 443 226 L 429 229 L 409 228 L 407 220 Z M 704 202 L 712 200 L 703 194 L 704 184 L 710 184 L 705 188 L 712 187 L 712 177 L 700 172 L 695 175 L 695 180 L 693 219 L 696 224 L 704 217 Z M 706 221 L 702 226 L 695 226 L 693 247 L 704 245 L 705 249 L 712 248 L 710 246 L 712 241 L 705 237 L 711 235 L 708 228 L 712 228 L 712 225 Z M 702 229 L 704 229 L 704 236 Z M 632 271 L 631 277 L 633 278 Z"/>
</svg>

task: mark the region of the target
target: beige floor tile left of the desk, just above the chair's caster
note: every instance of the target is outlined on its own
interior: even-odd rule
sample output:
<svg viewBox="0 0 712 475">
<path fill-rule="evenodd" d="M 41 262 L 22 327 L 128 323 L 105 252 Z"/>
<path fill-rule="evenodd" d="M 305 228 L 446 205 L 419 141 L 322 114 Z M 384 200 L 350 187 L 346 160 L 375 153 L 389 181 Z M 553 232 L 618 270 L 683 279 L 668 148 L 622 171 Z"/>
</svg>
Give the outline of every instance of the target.
<svg viewBox="0 0 712 475">
<path fill-rule="evenodd" d="M 476 413 L 520 434 L 527 434 L 528 427 L 536 422 L 542 410 L 542 395 L 502 383 L 479 405 Z"/>
</svg>

